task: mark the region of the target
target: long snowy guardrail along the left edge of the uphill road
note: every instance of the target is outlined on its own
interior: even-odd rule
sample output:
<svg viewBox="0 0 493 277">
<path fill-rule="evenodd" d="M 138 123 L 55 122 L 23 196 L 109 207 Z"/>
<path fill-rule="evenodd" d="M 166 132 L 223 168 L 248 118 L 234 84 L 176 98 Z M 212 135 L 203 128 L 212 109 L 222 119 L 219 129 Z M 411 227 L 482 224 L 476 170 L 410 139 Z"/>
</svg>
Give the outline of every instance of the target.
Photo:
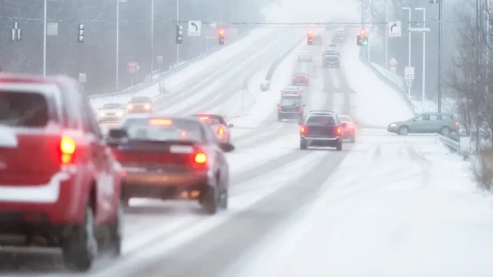
<svg viewBox="0 0 493 277">
<path fill-rule="evenodd" d="M 240 37 L 237 37 L 237 40 L 241 40 L 242 38 L 246 37 L 246 35 L 248 35 L 248 34 L 244 34 L 244 35 L 242 35 Z M 141 90 L 144 90 L 144 89 L 146 89 L 146 88 L 148 88 L 148 87 L 150 87 L 152 85 L 155 85 L 155 84 L 159 83 L 164 78 L 169 77 L 172 74 L 175 74 L 175 73 L 180 72 L 182 69 L 187 68 L 193 62 L 196 62 L 196 60 L 200 60 L 202 58 L 206 58 L 206 57 L 212 55 L 213 53 L 216 53 L 220 49 L 222 49 L 222 47 L 214 47 L 214 48 L 211 48 L 211 51 L 209 51 L 208 53 L 205 53 L 205 54 L 203 54 L 201 56 L 198 56 L 196 58 L 193 58 L 191 60 L 187 60 L 186 62 L 182 62 L 182 64 L 181 65 L 178 65 L 178 67 L 174 67 L 172 69 L 169 69 L 168 71 L 163 72 L 162 74 L 160 74 L 159 77 L 153 78 L 153 79 L 149 80 L 148 82 L 141 83 L 141 84 L 135 85 L 133 87 L 129 87 L 129 88 L 127 88 L 125 90 L 122 90 L 120 92 L 109 92 L 109 93 L 103 93 L 103 94 L 89 95 L 88 96 L 88 99 L 89 100 L 104 100 L 104 99 L 111 99 L 111 98 L 120 97 L 120 96 L 132 96 L 133 94 L 136 94 L 138 92 L 141 92 Z"/>
</svg>

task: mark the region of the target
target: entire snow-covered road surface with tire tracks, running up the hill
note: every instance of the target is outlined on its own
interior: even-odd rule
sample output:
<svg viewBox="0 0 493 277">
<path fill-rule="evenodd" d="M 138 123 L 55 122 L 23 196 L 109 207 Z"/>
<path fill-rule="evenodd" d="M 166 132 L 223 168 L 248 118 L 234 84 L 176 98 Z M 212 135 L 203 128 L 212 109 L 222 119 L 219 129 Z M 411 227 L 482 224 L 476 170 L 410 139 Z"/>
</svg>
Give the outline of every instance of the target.
<svg viewBox="0 0 493 277">
<path fill-rule="evenodd" d="M 276 43 L 288 48 L 295 37 Z M 296 62 L 303 50 L 311 51 L 313 63 Z M 382 122 L 375 119 L 384 114 L 382 106 L 375 112 L 361 101 L 347 72 L 322 67 L 322 50 L 300 44 L 279 65 L 269 92 L 260 92 L 258 74 L 265 74 L 275 50 L 263 45 L 212 73 L 223 78 L 159 102 L 157 112 L 163 113 L 237 114 L 231 100 L 239 96 L 230 84 L 248 79 L 254 101 L 243 111 L 248 116 L 232 120 L 237 150 L 227 157 L 227 211 L 209 217 L 197 203 L 132 199 L 119 260 L 101 260 L 87 274 L 73 274 L 61 267 L 57 253 L 0 253 L 1 275 L 492 276 L 490 200 L 476 193 L 467 164 L 448 155 L 435 136 L 399 137 L 361 126 L 357 142 L 345 143 L 343 151 L 300 151 L 297 122 L 277 121 L 279 90 L 289 85 L 292 72 L 302 71 L 311 78 L 306 110 Z M 393 121 L 407 112 L 385 115 Z"/>
</svg>

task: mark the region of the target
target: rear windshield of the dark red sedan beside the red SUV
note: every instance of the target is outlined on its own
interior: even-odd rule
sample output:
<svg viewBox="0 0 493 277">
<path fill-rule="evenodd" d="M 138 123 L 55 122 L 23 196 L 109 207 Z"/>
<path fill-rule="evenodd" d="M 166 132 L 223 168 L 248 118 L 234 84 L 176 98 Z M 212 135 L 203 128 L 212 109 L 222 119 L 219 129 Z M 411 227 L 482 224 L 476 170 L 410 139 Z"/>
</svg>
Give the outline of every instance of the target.
<svg viewBox="0 0 493 277">
<path fill-rule="evenodd" d="M 201 124 L 188 119 L 132 118 L 122 128 L 130 140 L 187 140 L 203 142 Z"/>
</svg>

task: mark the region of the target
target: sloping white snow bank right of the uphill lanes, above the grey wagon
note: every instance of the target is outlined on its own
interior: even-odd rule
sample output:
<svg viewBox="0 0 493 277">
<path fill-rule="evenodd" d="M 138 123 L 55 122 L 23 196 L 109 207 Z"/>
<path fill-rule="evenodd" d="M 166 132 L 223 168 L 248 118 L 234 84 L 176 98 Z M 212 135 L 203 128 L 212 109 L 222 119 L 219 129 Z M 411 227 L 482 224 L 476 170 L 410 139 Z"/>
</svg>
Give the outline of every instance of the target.
<svg viewBox="0 0 493 277">
<path fill-rule="evenodd" d="M 354 117 L 366 125 L 386 127 L 391 121 L 409 119 L 413 112 L 392 87 L 359 60 L 359 47 L 348 44 L 342 51 L 341 71 L 356 92 Z"/>
</svg>

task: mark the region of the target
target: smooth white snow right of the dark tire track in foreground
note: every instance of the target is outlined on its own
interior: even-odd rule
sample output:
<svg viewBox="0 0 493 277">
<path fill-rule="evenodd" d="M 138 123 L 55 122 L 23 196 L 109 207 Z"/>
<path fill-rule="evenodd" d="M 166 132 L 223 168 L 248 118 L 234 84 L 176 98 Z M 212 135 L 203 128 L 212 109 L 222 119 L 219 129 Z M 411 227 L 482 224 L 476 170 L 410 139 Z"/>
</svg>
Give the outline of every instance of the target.
<svg viewBox="0 0 493 277">
<path fill-rule="evenodd" d="M 235 276 L 492 276 L 493 199 L 468 163 L 435 137 L 362 136 Z"/>
</svg>

